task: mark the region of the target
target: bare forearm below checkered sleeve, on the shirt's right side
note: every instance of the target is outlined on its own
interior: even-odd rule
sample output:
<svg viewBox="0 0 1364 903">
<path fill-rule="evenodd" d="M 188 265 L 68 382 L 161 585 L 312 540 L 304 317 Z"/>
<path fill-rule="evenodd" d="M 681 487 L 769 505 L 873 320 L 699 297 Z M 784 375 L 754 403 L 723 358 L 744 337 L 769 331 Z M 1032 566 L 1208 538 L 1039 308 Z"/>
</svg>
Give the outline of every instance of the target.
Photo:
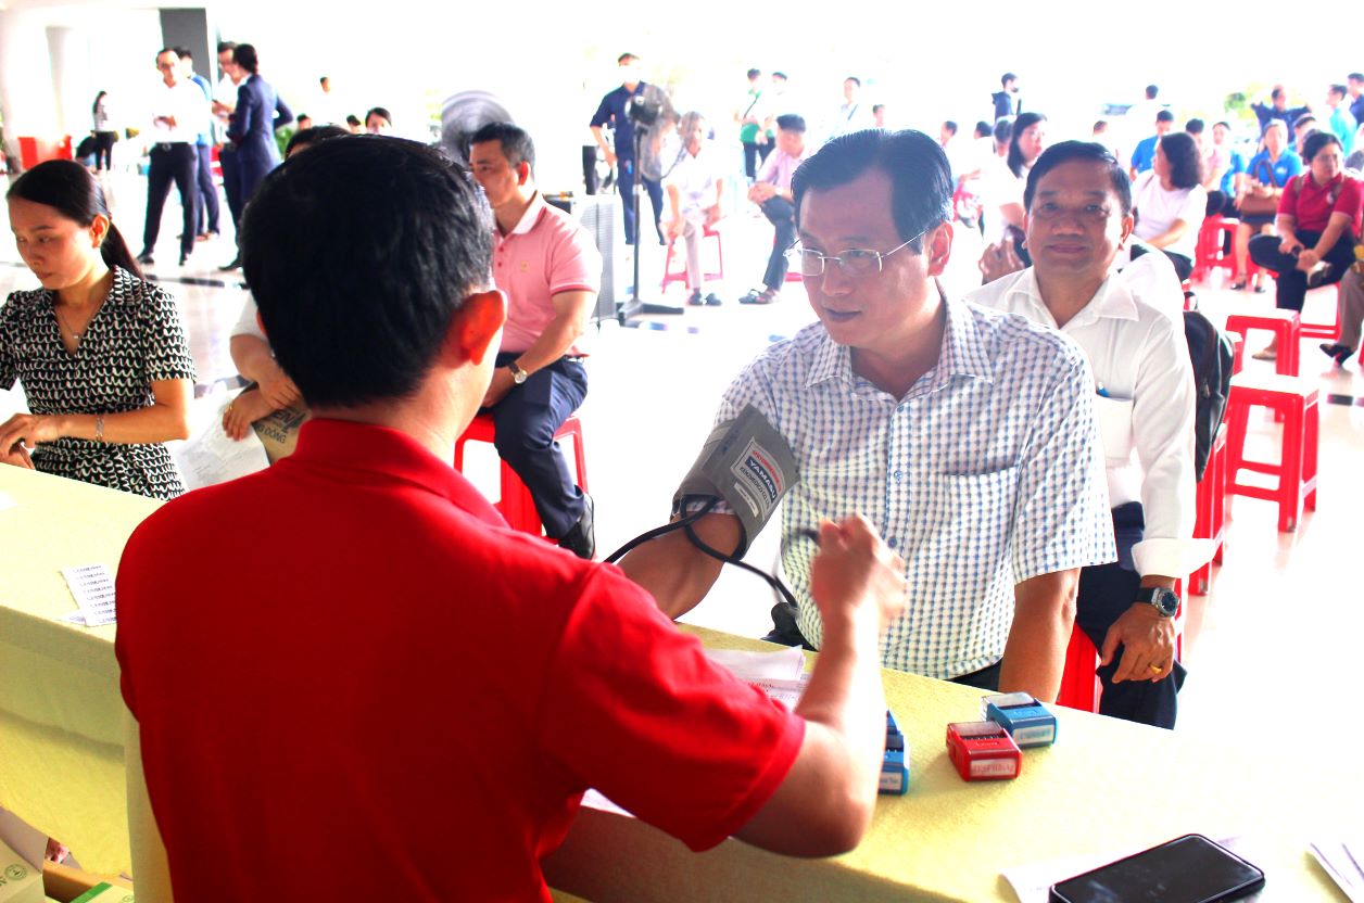
<svg viewBox="0 0 1364 903">
<path fill-rule="evenodd" d="M 1075 625 L 1079 569 L 1039 574 L 1013 588 L 1013 626 L 1004 647 L 1000 692 L 1053 702 Z"/>
</svg>

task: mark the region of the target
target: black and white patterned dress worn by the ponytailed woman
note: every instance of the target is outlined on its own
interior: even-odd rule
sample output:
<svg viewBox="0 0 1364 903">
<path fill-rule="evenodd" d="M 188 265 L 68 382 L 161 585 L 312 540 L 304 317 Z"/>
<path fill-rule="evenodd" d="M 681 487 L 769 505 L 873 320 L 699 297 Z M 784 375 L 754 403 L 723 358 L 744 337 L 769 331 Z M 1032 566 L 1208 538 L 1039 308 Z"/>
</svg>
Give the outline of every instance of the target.
<svg viewBox="0 0 1364 903">
<path fill-rule="evenodd" d="M 190 344 L 175 300 L 161 288 L 115 267 L 104 306 L 72 355 L 61 344 L 55 296 L 14 292 L 0 307 L 0 389 L 18 378 L 29 411 L 123 413 L 154 404 L 151 383 L 195 378 Z M 44 473 L 151 498 L 184 492 L 164 443 L 125 445 L 64 436 L 33 451 Z"/>
</svg>

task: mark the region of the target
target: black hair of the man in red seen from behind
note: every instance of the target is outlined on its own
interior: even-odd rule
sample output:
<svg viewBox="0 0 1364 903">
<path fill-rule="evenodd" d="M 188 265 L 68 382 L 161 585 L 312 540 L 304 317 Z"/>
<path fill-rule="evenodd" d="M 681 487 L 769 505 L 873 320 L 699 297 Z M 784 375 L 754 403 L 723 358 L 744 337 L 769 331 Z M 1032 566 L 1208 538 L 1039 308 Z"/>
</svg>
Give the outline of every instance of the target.
<svg viewBox="0 0 1364 903">
<path fill-rule="evenodd" d="M 431 147 L 337 138 L 265 177 L 243 216 L 241 262 L 310 405 L 402 398 L 464 299 L 491 284 L 492 211 Z"/>
</svg>

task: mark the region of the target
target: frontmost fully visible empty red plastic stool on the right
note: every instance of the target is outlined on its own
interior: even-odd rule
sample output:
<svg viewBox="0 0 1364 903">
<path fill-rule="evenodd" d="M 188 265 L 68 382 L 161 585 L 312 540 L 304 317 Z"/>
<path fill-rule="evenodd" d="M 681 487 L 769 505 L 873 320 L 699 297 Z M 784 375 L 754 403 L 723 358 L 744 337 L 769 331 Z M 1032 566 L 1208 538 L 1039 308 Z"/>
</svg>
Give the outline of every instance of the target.
<svg viewBox="0 0 1364 903">
<path fill-rule="evenodd" d="M 1252 406 L 1284 415 L 1284 441 L 1278 464 L 1245 460 L 1245 428 Z M 1248 495 L 1279 505 L 1279 532 L 1297 529 L 1303 506 L 1316 510 L 1318 389 L 1296 376 L 1232 376 L 1226 404 L 1226 492 Z M 1278 486 L 1263 488 L 1237 482 L 1239 471 L 1255 471 L 1278 477 Z"/>
</svg>

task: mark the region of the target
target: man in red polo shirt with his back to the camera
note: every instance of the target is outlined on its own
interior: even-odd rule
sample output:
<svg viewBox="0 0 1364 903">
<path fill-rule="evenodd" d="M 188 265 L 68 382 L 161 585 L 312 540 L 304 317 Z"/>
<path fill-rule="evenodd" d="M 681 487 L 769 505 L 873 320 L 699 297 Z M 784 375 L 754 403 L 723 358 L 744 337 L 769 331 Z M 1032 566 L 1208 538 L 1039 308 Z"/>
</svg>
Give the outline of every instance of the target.
<svg viewBox="0 0 1364 903">
<path fill-rule="evenodd" d="M 261 184 L 241 252 L 314 419 L 293 456 L 149 517 L 119 566 L 139 899 L 301 900 L 330 874 L 357 900 L 548 900 L 540 858 L 587 787 L 694 850 L 858 843 L 903 593 L 865 521 L 821 528 L 824 651 L 788 712 L 450 468 L 505 316 L 462 169 L 323 142 Z M 229 561 L 250 580 L 216 580 Z"/>
</svg>

